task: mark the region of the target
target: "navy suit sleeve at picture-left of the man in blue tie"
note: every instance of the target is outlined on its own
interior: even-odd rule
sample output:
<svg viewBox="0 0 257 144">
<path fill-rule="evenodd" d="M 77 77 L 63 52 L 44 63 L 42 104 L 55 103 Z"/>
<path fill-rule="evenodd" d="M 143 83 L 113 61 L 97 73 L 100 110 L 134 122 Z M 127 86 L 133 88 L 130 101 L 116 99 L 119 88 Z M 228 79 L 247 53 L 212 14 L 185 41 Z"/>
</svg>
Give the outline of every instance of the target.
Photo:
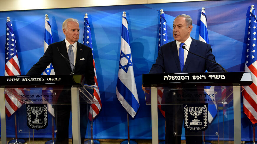
<svg viewBox="0 0 257 144">
<path fill-rule="evenodd" d="M 163 47 L 160 47 L 160 51 L 158 52 L 158 57 L 156 59 L 155 64 L 152 65 L 152 68 L 149 74 L 156 74 L 156 73 L 164 73 L 164 59 L 163 59 Z"/>
</svg>

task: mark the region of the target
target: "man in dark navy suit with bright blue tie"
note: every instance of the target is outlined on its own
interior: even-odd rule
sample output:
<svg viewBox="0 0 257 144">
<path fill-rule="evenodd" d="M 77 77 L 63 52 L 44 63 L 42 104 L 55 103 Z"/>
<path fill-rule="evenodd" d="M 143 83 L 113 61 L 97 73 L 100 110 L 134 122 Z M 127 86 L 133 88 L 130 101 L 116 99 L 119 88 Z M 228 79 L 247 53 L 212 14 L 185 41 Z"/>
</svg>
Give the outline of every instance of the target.
<svg viewBox="0 0 257 144">
<path fill-rule="evenodd" d="M 212 48 L 209 44 L 206 44 L 199 40 L 195 40 L 190 37 L 192 28 L 192 19 L 190 16 L 183 14 L 177 16 L 174 19 L 173 37 L 175 41 L 169 42 L 160 47 L 156 62 L 152 65 L 149 73 L 204 72 L 206 69 L 208 70 L 208 72 L 223 72 L 222 68 L 219 65 L 191 53 L 188 53 L 182 48 L 182 46 L 185 46 L 186 49 L 190 52 L 215 61 L 215 57 L 212 54 Z M 181 55 L 180 52 L 182 52 Z M 181 58 L 180 56 L 183 57 Z M 142 88 L 143 90 L 145 90 L 144 87 Z M 181 90 L 180 92 L 186 94 L 186 91 L 187 90 Z M 192 94 L 192 92 L 189 93 Z M 173 91 L 164 90 L 162 95 L 162 102 L 172 101 Z M 166 144 L 180 144 L 183 122 L 183 105 L 162 105 L 161 108 L 165 111 Z M 176 135 L 174 134 L 175 131 Z M 186 131 L 187 144 L 201 144 L 201 141 L 201 133 L 199 134 Z"/>
</svg>

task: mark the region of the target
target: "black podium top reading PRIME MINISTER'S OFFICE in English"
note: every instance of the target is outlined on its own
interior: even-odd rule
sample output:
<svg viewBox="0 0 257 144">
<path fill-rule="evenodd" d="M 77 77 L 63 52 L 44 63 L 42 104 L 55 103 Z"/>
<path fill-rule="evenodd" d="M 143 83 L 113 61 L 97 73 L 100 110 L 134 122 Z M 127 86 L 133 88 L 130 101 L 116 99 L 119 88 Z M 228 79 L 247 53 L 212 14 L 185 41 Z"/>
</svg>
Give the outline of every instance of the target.
<svg viewBox="0 0 257 144">
<path fill-rule="evenodd" d="M 0 87 L 83 87 L 83 75 L 0 76 Z"/>
</svg>

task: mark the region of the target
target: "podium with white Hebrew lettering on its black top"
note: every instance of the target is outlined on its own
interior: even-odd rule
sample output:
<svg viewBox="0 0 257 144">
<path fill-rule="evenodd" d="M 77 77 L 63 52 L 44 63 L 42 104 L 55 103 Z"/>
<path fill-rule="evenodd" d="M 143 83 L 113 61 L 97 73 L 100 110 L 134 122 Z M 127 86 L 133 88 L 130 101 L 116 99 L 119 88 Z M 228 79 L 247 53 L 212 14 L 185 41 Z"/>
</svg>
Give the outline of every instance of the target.
<svg viewBox="0 0 257 144">
<path fill-rule="evenodd" d="M 152 143 L 159 141 L 158 105 L 173 114 L 173 135 L 201 135 L 204 140 L 206 136 L 219 143 L 241 143 L 240 92 L 241 86 L 251 83 L 251 72 L 143 74 L 146 104 L 151 105 Z M 228 110 L 232 116 L 227 115 Z M 216 122 L 212 122 L 210 113 L 215 111 Z M 182 126 L 176 127 L 178 123 L 183 123 L 185 133 L 181 133 Z"/>
</svg>

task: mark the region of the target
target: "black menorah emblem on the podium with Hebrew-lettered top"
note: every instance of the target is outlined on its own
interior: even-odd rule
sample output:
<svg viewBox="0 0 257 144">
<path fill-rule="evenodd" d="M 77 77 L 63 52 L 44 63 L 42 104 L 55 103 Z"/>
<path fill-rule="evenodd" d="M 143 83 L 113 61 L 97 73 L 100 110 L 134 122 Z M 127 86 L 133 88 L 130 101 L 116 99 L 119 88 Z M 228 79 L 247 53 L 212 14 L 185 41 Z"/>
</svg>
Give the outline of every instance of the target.
<svg viewBox="0 0 257 144">
<path fill-rule="evenodd" d="M 189 131 L 204 131 L 208 128 L 208 104 L 183 104 L 184 128 Z"/>
</svg>

